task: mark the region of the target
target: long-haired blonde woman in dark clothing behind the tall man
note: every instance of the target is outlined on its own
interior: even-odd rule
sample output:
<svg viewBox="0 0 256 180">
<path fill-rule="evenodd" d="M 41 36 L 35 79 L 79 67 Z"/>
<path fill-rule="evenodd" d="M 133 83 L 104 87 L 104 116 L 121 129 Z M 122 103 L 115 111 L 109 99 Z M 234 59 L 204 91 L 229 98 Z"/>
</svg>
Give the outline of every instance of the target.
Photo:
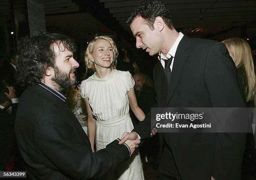
<svg viewBox="0 0 256 180">
<path fill-rule="evenodd" d="M 255 107 L 253 102 L 255 91 L 255 72 L 251 47 L 248 45 L 246 40 L 238 37 L 224 40 L 223 43 L 228 48 L 228 52 L 236 64 L 238 79 L 245 95 L 247 107 Z M 256 170 L 253 168 L 255 165 L 255 141 L 253 133 L 247 133 L 246 147 L 242 161 L 241 180 L 249 180 L 251 174 L 256 175 Z"/>
</svg>

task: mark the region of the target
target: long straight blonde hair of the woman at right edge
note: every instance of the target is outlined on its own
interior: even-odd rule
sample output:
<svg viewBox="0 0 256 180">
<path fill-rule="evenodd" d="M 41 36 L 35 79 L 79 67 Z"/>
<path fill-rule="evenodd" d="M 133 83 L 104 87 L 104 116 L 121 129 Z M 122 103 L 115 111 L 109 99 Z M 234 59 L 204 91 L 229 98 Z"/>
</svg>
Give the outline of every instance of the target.
<svg viewBox="0 0 256 180">
<path fill-rule="evenodd" d="M 253 101 L 255 87 L 255 72 L 251 47 L 246 40 L 233 37 L 224 40 L 228 52 L 236 64 L 238 78 L 241 82 L 246 102 Z"/>
</svg>

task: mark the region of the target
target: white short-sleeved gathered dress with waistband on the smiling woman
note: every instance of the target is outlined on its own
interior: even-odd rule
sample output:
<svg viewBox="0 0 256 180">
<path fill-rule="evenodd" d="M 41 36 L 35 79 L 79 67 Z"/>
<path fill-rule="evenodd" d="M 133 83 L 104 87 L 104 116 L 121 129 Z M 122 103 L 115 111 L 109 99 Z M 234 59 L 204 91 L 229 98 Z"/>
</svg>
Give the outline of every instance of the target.
<svg viewBox="0 0 256 180">
<path fill-rule="evenodd" d="M 134 86 L 134 80 L 127 71 L 112 70 L 104 77 L 95 74 L 81 83 L 81 95 L 87 98 L 96 120 L 96 151 L 103 149 L 124 132 L 131 132 L 133 124 L 129 115 L 127 92 Z M 124 163 L 104 176 L 109 180 L 144 180 L 138 149 Z"/>
</svg>

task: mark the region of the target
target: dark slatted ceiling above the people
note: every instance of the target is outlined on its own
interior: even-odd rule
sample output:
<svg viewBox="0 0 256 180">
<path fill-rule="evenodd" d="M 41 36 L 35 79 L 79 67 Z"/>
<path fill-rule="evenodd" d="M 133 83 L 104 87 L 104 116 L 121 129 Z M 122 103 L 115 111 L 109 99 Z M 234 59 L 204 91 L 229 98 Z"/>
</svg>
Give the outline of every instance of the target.
<svg viewBox="0 0 256 180">
<path fill-rule="evenodd" d="M 24 0 L 14 0 L 15 20 L 24 21 Z M 125 20 L 139 0 L 44 0 L 46 27 L 55 27 L 82 41 L 95 34 L 113 35 L 120 43 L 133 38 Z M 172 12 L 174 27 L 193 36 L 223 40 L 256 36 L 256 0 L 162 0 Z M 10 0 L 0 0 L 0 20 L 11 16 Z M 256 44 L 256 43 L 254 43 Z"/>
</svg>

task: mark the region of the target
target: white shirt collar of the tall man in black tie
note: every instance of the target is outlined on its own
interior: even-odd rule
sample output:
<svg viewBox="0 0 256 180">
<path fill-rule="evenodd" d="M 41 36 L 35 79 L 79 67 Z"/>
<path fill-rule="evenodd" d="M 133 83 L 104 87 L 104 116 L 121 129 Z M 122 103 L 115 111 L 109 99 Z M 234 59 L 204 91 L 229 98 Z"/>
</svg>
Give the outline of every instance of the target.
<svg viewBox="0 0 256 180">
<path fill-rule="evenodd" d="M 182 34 L 182 32 L 179 32 L 179 36 L 178 36 L 177 40 L 174 42 L 174 44 L 172 45 L 172 47 L 169 50 L 169 52 L 167 53 L 167 55 L 165 56 L 165 55 L 161 54 L 161 60 L 160 61 L 161 61 L 161 64 L 162 64 L 163 67 L 164 67 L 164 60 L 165 59 L 169 59 L 170 57 L 175 58 L 175 53 L 177 51 L 179 42 L 182 40 L 183 36 L 184 36 L 184 34 Z M 174 62 L 174 59 L 172 60 L 172 64 L 170 65 L 171 71 L 172 71 L 172 67 L 173 67 L 173 62 Z"/>
</svg>

